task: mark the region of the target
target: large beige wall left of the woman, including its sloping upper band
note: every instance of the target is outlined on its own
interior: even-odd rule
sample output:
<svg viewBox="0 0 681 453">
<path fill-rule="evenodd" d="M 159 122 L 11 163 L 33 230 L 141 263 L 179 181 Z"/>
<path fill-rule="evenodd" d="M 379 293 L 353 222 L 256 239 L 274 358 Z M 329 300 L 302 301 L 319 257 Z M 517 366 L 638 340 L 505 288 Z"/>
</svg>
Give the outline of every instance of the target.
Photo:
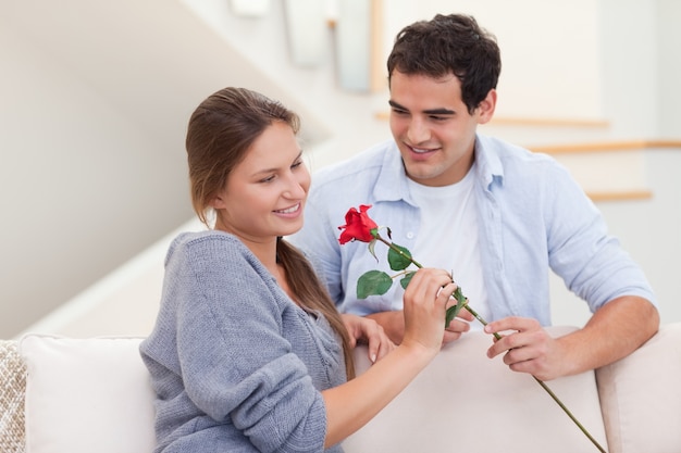
<svg viewBox="0 0 681 453">
<path fill-rule="evenodd" d="M 0 338 L 191 217 L 206 96 L 277 92 L 173 0 L 0 0 Z"/>
</svg>

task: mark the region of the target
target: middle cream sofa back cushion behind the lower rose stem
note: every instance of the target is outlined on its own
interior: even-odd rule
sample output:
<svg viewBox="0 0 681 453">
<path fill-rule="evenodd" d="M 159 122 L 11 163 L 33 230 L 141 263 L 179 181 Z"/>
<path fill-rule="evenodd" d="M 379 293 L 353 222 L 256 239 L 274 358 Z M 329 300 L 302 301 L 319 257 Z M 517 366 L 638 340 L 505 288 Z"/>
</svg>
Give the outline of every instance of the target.
<svg viewBox="0 0 681 453">
<path fill-rule="evenodd" d="M 597 451 L 532 376 L 511 372 L 500 357 L 487 358 L 491 343 L 491 336 L 474 331 L 443 348 L 403 393 L 343 443 L 346 453 Z M 369 367 L 366 348 L 356 349 L 356 361 L 358 374 Z M 594 373 L 546 383 L 607 449 Z"/>
</svg>

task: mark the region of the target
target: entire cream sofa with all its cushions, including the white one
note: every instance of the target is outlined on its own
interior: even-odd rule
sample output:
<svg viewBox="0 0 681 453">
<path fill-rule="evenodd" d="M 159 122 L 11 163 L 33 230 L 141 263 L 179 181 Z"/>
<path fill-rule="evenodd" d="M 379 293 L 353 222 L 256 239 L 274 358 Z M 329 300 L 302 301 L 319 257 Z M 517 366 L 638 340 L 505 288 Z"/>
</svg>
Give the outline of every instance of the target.
<svg viewBox="0 0 681 453">
<path fill-rule="evenodd" d="M 554 327 L 552 335 L 571 328 Z M 149 453 L 153 393 L 139 338 L 0 341 L 0 452 Z M 488 360 L 491 338 L 447 345 L 344 442 L 367 452 L 597 452 L 534 379 Z M 356 351 L 358 369 L 369 366 Z M 681 323 L 629 357 L 547 382 L 610 453 L 681 452 Z"/>
</svg>

